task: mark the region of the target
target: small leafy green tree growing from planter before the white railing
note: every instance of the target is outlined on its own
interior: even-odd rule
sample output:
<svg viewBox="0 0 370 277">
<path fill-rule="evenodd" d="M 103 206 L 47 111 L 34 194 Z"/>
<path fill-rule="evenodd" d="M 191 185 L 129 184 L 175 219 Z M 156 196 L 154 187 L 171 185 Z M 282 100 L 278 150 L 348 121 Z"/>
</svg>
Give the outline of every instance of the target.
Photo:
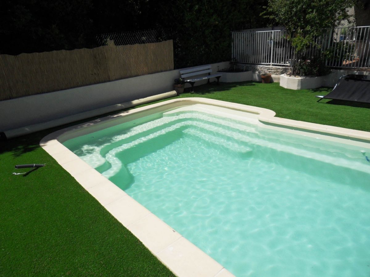
<svg viewBox="0 0 370 277">
<path fill-rule="evenodd" d="M 320 66 L 318 60 L 323 59 L 325 53 L 320 53 L 317 57 L 306 57 L 306 49 L 310 44 L 315 44 L 315 38 L 322 35 L 324 29 L 334 28 L 343 21 L 353 23 L 354 18 L 348 10 L 356 3 L 357 0 L 269 1 L 263 15 L 283 25 L 290 34 L 288 39 L 292 42 L 296 55 L 293 73 L 302 70 L 303 65 L 307 68 Z"/>
</svg>

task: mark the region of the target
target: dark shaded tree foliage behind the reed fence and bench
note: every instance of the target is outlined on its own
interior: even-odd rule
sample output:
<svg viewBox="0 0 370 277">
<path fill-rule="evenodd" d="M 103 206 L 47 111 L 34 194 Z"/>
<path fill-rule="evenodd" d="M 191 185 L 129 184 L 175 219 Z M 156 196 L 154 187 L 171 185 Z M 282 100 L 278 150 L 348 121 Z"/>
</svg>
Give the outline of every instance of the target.
<svg viewBox="0 0 370 277">
<path fill-rule="evenodd" d="M 231 31 L 265 27 L 252 0 L 2 0 L 0 54 L 94 47 L 102 33 L 164 29 L 175 67 L 231 58 Z"/>
</svg>

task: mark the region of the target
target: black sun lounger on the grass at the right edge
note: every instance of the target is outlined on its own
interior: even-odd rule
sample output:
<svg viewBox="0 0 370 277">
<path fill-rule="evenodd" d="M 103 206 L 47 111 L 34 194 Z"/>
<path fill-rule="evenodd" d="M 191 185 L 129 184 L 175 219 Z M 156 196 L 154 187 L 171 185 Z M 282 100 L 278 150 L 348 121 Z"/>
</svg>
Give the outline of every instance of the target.
<svg viewBox="0 0 370 277">
<path fill-rule="evenodd" d="M 346 100 L 370 103 L 370 80 L 366 75 L 344 75 L 339 78 L 333 90 L 326 96 L 316 96 L 320 99 Z"/>
</svg>

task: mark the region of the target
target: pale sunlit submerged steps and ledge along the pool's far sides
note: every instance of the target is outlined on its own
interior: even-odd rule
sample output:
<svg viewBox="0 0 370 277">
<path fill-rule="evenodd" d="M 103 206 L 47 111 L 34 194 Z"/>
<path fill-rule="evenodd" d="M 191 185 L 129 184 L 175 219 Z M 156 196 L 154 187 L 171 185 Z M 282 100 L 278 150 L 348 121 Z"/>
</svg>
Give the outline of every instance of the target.
<svg viewBox="0 0 370 277">
<path fill-rule="evenodd" d="M 162 126 L 166 127 L 161 129 Z M 85 151 L 85 154 L 80 155 L 80 157 L 94 168 L 99 167 L 107 161 L 111 165 L 111 168 L 105 171 L 103 175 L 109 178 L 120 171 L 122 167 L 121 161 L 116 157 L 117 153 L 179 128 L 184 128 L 186 130 L 185 133 L 187 132 L 189 135 L 198 136 L 203 140 L 209 141 L 209 143 L 222 145 L 239 153 L 251 153 L 253 145 L 258 145 L 360 171 L 369 170 L 368 164 L 364 165 L 364 163 L 356 161 L 348 164 L 343 158 L 332 157 L 327 153 L 317 153 L 315 147 L 307 151 L 307 149 L 295 147 L 294 144 L 284 141 L 277 143 L 279 139 L 271 140 L 268 137 L 261 136 L 256 131 L 256 126 L 253 125 L 242 122 L 231 122 L 227 119 L 214 117 L 211 114 L 195 114 L 192 111 L 166 113 L 165 117 L 132 127 L 127 132 L 114 136 L 110 143 L 101 146 L 86 146 L 86 149 L 82 149 L 82 151 Z M 150 133 L 151 130 L 155 129 L 157 131 Z M 139 137 L 140 134 L 144 136 Z M 130 141 L 130 138 L 134 136 L 137 139 Z M 231 138 L 231 142 L 227 138 Z M 124 143 L 119 144 L 120 141 Z M 236 141 L 241 141 L 241 144 L 238 145 Z M 112 147 L 112 143 L 119 144 L 119 146 L 109 149 Z M 246 147 L 245 144 L 249 144 L 250 147 Z M 104 148 L 106 147 L 109 151 L 105 154 Z M 102 157 L 101 153 L 105 154 L 105 157 Z"/>
</svg>

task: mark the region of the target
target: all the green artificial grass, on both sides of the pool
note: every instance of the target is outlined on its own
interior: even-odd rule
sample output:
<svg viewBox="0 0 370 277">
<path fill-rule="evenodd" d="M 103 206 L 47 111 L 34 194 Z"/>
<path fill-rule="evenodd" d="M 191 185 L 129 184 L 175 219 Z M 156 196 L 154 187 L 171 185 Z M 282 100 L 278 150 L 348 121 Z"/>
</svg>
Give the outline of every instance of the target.
<svg viewBox="0 0 370 277">
<path fill-rule="evenodd" d="M 264 107 L 279 117 L 370 131 L 369 106 L 316 102 L 314 95 L 331 88 L 289 90 L 279 83 L 245 82 L 195 90 L 176 98 L 207 97 Z M 41 138 L 61 128 L 0 142 L 0 275 L 173 275 L 39 146 Z M 28 163 L 46 166 L 12 174 L 27 171 L 14 165 Z"/>
</svg>

